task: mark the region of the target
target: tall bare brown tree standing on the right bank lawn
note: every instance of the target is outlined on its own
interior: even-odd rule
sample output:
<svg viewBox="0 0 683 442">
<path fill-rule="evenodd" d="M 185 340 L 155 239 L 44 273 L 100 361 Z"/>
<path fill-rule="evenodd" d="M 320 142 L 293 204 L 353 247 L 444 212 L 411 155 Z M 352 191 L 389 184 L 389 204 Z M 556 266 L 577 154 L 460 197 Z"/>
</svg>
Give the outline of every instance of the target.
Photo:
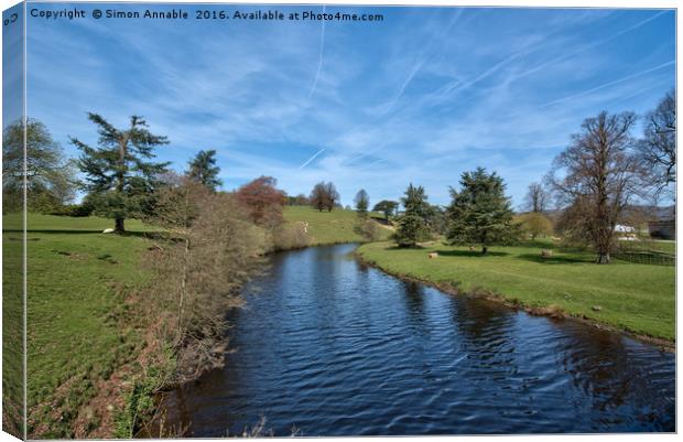
<svg viewBox="0 0 683 442">
<path fill-rule="evenodd" d="M 630 136 L 635 121 L 631 112 L 603 111 L 587 118 L 581 132 L 572 136 L 571 145 L 555 158 L 551 172 L 553 186 L 566 205 L 562 224 L 572 236 L 593 245 L 597 263 L 609 263 L 615 226 L 642 190 L 642 169 Z"/>
</svg>

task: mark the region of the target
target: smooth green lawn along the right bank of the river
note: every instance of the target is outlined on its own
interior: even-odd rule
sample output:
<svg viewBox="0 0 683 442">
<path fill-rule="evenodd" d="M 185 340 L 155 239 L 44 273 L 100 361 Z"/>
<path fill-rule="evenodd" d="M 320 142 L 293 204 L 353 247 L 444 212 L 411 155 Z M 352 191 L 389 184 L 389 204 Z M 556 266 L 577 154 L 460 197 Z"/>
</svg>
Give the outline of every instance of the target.
<svg viewBox="0 0 683 442">
<path fill-rule="evenodd" d="M 551 258 L 541 249 L 552 248 Z M 427 254 L 437 251 L 436 259 Z M 399 249 L 390 242 L 364 245 L 358 254 L 386 271 L 464 292 L 480 289 L 531 308 L 557 306 L 637 334 L 675 338 L 675 268 L 614 260 L 593 263 L 594 255 L 562 251 L 549 242 L 492 247 L 489 256 L 465 247 L 432 244 Z M 600 311 L 593 306 L 599 305 Z"/>
</svg>

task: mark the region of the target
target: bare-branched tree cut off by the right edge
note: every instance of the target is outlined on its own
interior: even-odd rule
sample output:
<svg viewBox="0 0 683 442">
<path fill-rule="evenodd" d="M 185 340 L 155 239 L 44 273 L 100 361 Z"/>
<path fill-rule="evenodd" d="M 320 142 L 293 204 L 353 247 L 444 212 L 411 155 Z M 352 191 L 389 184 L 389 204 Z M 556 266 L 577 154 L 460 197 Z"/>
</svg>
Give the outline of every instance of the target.
<svg viewBox="0 0 683 442">
<path fill-rule="evenodd" d="M 663 192 L 674 195 L 676 182 L 676 98 L 669 91 L 657 109 L 646 116 L 643 139 L 638 143 L 638 157 L 655 197 Z"/>
</svg>

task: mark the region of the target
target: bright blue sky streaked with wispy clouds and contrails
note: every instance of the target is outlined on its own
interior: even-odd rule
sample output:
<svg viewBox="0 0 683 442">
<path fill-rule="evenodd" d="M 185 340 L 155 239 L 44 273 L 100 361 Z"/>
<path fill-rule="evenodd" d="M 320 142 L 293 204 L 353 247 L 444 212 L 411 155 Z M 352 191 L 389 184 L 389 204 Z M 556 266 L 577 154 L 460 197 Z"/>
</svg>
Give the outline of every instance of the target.
<svg viewBox="0 0 683 442">
<path fill-rule="evenodd" d="M 117 126 L 143 115 L 176 170 L 216 149 L 226 190 L 264 174 L 307 194 L 332 180 L 351 204 L 360 187 L 376 203 L 413 182 L 446 204 L 480 165 L 518 206 L 584 118 L 642 114 L 675 84 L 673 11 L 372 7 L 361 12 L 382 22 L 323 24 L 98 21 L 76 6 L 88 19 L 28 20 L 29 116 L 75 155 L 68 136 L 97 139 L 87 111 Z"/>
</svg>

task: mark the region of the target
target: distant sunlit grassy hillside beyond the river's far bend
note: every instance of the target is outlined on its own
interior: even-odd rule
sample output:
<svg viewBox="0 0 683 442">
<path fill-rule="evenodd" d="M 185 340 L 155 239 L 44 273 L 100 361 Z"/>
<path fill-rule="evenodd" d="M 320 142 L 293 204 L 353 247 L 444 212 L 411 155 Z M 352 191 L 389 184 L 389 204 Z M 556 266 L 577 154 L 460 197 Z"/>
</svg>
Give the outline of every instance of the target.
<svg viewBox="0 0 683 442">
<path fill-rule="evenodd" d="M 371 213 L 371 217 L 383 218 L 383 215 Z M 358 216 L 354 211 L 335 208 L 332 212 L 318 212 L 310 206 L 284 207 L 284 219 L 288 223 L 308 223 L 308 234 L 313 246 L 340 242 L 360 242 L 362 238 L 354 231 Z M 391 230 L 380 227 L 384 238 Z"/>
</svg>

